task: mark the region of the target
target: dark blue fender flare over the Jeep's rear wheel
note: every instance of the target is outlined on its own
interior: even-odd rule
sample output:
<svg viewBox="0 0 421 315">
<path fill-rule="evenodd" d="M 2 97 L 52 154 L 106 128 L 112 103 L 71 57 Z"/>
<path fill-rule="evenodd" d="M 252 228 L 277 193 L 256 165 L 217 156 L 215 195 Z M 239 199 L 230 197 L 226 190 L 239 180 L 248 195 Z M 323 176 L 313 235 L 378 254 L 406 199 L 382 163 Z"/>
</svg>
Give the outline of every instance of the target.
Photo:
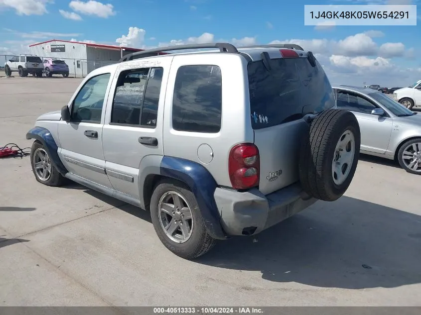
<svg viewBox="0 0 421 315">
<path fill-rule="evenodd" d="M 164 156 L 160 164 L 160 175 L 184 182 L 196 198 L 209 235 L 216 239 L 227 238 L 214 199 L 218 185 L 206 168 L 193 161 Z"/>
</svg>

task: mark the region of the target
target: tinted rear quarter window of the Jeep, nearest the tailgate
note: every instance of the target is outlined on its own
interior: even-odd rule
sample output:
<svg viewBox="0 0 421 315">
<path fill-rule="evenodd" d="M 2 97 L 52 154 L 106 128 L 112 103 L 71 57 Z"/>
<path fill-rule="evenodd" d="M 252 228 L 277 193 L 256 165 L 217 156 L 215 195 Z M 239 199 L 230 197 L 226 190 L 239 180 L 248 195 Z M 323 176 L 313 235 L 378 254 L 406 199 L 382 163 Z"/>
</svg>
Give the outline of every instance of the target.
<svg viewBox="0 0 421 315">
<path fill-rule="evenodd" d="M 182 66 L 175 78 L 172 127 L 190 132 L 221 129 L 221 69 L 212 65 Z"/>
</svg>

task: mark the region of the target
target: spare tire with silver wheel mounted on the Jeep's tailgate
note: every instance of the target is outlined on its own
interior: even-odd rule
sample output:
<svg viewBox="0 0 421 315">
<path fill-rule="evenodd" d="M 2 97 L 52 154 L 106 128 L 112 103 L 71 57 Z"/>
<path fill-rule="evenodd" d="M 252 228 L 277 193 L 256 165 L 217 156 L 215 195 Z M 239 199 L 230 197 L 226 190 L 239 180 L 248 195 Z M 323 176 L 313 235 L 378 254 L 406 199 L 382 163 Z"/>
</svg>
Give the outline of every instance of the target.
<svg viewBox="0 0 421 315">
<path fill-rule="evenodd" d="M 352 112 L 328 109 L 318 114 L 301 142 L 302 189 L 323 201 L 340 198 L 354 177 L 360 143 L 360 126 Z"/>
</svg>

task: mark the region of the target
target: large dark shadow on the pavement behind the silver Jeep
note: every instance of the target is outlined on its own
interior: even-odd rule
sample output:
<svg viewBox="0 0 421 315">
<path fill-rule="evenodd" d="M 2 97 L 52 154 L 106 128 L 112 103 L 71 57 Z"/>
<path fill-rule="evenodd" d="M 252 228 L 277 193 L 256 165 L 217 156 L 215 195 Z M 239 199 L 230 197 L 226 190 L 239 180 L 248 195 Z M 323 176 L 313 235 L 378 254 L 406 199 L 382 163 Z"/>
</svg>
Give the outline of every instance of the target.
<svg viewBox="0 0 421 315">
<path fill-rule="evenodd" d="M 421 216 L 349 197 L 319 201 L 254 237 L 218 242 L 195 261 L 325 288 L 416 284 L 421 283 Z"/>
</svg>

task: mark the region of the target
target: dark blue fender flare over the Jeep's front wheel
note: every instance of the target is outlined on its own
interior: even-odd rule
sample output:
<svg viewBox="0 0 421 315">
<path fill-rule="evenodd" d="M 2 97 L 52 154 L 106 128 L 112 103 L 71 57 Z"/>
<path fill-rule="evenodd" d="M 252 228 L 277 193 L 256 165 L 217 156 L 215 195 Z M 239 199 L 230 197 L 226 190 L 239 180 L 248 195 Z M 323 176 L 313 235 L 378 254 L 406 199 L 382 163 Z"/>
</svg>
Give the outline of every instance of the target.
<svg viewBox="0 0 421 315">
<path fill-rule="evenodd" d="M 26 139 L 35 139 L 41 142 L 51 159 L 51 163 L 54 165 L 57 171 L 63 176 L 68 173 L 67 169 L 64 167 L 58 156 L 57 144 L 55 143 L 54 138 L 48 129 L 43 127 L 33 127 L 26 133 Z"/>
</svg>

